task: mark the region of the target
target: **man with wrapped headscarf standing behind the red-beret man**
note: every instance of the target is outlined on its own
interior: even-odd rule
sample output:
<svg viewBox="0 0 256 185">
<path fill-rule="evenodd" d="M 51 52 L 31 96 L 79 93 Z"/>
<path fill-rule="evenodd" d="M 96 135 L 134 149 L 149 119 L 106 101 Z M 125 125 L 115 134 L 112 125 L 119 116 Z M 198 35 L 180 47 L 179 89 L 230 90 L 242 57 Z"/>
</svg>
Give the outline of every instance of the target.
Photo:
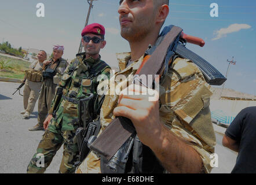
<svg viewBox="0 0 256 185">
<path fill-rule="evenodd" d="M 40 131 L 43 129 L 43 121 L 51 108 L 55 89 L 62 75 L 67 68 L 68 62 L 61 58 L 63 56 L 64 46 L 53 47 L 53 57 L 49 61 L 43 62 L 43 84 L 38 100 L 38 124 L 28 129 L 29 131 Z"/>
</svg>

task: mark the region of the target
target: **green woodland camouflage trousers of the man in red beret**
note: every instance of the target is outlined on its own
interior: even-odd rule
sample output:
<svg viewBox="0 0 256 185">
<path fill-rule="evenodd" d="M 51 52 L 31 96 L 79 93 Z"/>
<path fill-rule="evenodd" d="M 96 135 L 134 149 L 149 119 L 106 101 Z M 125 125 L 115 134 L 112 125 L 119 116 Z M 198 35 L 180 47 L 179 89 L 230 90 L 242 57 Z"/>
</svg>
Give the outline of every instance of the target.
<svg viewBox="0 0 256 185">
<path fill-rule="evenodd" d="M 62 123 L 62 121 L 61 121 Z M 63 158 L 60 164 L 60 173 L 74 173 L 75 162 L 79 161 L 79 151 L 75 130 L 62 130 L 61 123 L 56 127 L 56 121 L 52 119 L 49 127 L 42 136 L 42 140 L 36 149 L 27 168 L 27 173 L 43 173 L 50 165 L 58 149 L 63 144 Z M 49 129 L 50 128 L 50 129 Z M 51 129 L 54 128 L 54 129 Z M 54 130 L 54 132 L 52 131 Z"/>
</svg>

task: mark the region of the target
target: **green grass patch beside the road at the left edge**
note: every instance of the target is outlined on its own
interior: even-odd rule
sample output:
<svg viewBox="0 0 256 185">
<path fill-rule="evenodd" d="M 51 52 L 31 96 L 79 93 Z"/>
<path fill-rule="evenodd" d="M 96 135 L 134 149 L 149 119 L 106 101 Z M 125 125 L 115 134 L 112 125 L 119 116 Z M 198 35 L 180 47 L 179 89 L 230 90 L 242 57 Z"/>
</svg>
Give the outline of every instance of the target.
<svg viewBox="0 0 256 185">
<path fill-rule="evenodd" d="M 31 64 L 30 62 L 3 56 L 0 56 L 0 61 L 6 62 L 5 64 L 10 67 L 7 70 L 1 70 L 0 77 L 11 77 L 14 79 L 23 79 L 24 70 L 28 69 Z"/>
</svg>

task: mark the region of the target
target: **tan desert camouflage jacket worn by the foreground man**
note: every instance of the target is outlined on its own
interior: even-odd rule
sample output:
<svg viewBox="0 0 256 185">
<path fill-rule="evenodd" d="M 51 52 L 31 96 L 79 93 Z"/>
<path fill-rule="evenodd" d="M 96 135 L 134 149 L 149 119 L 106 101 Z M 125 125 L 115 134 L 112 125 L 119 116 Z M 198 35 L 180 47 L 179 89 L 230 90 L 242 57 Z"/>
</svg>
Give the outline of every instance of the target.
<svg viewBox="0 0 256 185">
<path fill-rule="evenodd" d="M 126 67 L 130 53 L 118 54 L 120 71 L 115 75 L 134 75 L 140 60 Z M 210 173 L 211 154 L 214 152 L 215 134 L 209 109 L 212 91 L 202 72 L 190 60 L 176 58 L 160 81 L 160 119 L 178 137 L 198 151 L 204 172 Z M 101 132 L 114 119 L 113 110 L 118 105 L 118 95 L 106 95 L 101 107 Z M 150 162 L 150 161 L 148 161 Z M 101 173 L 100 158 L 94 152 L 78 167 L 76 173 Z"/>
</svg>

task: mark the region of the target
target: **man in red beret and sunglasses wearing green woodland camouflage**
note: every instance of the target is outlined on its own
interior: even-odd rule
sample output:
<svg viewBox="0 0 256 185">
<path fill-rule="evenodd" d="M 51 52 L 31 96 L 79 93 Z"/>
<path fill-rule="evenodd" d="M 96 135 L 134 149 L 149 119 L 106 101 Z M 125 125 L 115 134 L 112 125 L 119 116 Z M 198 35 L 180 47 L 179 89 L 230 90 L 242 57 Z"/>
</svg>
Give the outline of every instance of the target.
<svg viewBox="0 0 256 185">
<path fill-rule="evenodd" d="M 85 53 L 77 54 L 76 59 L 71 62 L 71 65 L 61 77 L 59 87 L 57 87 L 63 88 L 60 102 L 57 102 L 56 94 L 52 102 L 52 108 L 49 110 L 49 116 L 43 123 L 44 128 L 47 128 L 46 132 L 28 165 L 28 173 L 45 172 L 63 143 L 64 151 L 59 172 L 74 173 L 75 162 L 79 161 L 79 151 L 75 137 L 76 129 L 79 127 L 78 99 L 85 97 L 89 92 L 93 93 L 94 108 L 90 107 L 86 111 L 96 111 L 102 98 L 97 94 L 97 86 L 101 80 L 97 77 L 101 74 L 109 77 L 110 67 L 101 60 L 99 54 L 100 49 L 103 49 L 106 45 L 104 34 L 104 27 L 96 23 L 87 25 L 83 29 L 82 42 Z M 58 106 L 54 110 L 56 103 Z M 93 119 L 97 119 L 97 115 Z M 36 158 L 38 154 L 44 156 L 43 167 L 36 165 L 39 160 L 39 158 Z"/>
</svg>

